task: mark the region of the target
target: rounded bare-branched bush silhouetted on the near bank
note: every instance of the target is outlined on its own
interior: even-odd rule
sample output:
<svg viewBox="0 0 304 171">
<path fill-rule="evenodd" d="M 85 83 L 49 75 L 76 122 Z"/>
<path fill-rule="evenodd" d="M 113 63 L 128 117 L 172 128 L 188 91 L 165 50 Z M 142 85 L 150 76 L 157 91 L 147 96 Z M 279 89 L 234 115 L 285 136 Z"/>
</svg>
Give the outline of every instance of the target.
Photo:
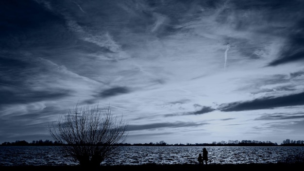
<svg viewBox="0 0 304 171">
<path fill-rule="evenodd" d="M 64 150 L 81 166 L 100 166 L 125 141 L 126 130 L 127 123 L 122 116 L 113 116 L 110 107 L 100 110 L 98 105 L 79 107 L 78 103 L 56 125 L 49 125 L 51 136 L 63 143 Z"/>
</svg>

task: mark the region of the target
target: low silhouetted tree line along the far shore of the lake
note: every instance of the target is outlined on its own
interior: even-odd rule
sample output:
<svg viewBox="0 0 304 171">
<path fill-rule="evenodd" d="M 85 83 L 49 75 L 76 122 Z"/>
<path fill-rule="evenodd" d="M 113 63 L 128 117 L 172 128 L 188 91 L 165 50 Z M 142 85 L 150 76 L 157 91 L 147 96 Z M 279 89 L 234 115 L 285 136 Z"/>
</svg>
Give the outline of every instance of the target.
<svg viewBox="0 0 304 171">
<path fill-rule="evenodd" d="M 57 141 L 51 141 L 51 140 L 39 140 L 39 141 L 32 141 L 27 142 L 25 140 L 22 141 L 15 141 L 15 142 L 3 142 L 1 146 L 63 146 L 65 144 L 62 144 Z M 304 140 L 290 140 L 286 139 L 284 140 L 280 145 L 277 143 L 272 143 L 271 141 L 256 141 L 256 140 L 228 140 L 228 141 L 220 141 L 220 142 L 212 142 L 210 143 L 195 143 L 195 144 L 168 144 L 165 141 L 160 142 L 150 142 L 150 143 L 135 143 L 135 144 L 129 144 L 129 143 L 119 143 L 115 144 L 118 146 L 304 146 Z"/>
</svg>

